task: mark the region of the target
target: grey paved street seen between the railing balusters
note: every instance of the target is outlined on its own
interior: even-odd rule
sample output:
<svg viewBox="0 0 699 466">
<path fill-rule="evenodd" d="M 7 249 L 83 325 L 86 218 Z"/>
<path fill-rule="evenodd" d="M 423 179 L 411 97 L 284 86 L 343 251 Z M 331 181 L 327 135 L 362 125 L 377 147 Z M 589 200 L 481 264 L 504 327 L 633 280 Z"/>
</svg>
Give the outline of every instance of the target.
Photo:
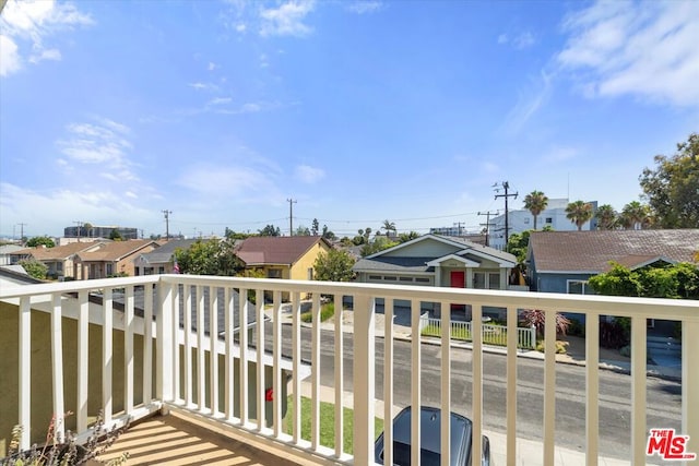
<svg viewBox="0 0 699 466">
<path fill-rule="evenodd" d="M 266 332 L 271 349 L 271 330 Z M 283 326 L 283 351 L 291 357 L 291 326 Z M 352 391 L 353 334 L 343 335 L 345 348 L 344 384 Z M 303 357 L 310 360 L 311 332 L 301 328 Z M 334 333 L 321 332 L 321 384 L 334 384 Z M 394 398 L 399 406 L 411 399 L 411 344 L 394 342 Z M 422 401 L 437 405 L 440 399 L 440 346 L 422 345 Z M 471 407 L 472 351 L 451 349 L 453 410 L 466 416 Z M 383 394 L 383 338 L 376 339 L 376 396 Z M 506 358 L 484 355 L 484 416 L 485 429 L 505 432 L 506 426 Z M 543 361 L 518 360 L 518 437 L 541 440 L 543 429 Z M 584 451 L 585 374 L 584 368 L 556 365 L 556 442 L 561 446 Z M 647 425 L 680 429 L 682 386 L 677 382 L 648 379 Z M 603 456 L 630 457 L 631 378 L 612 371 L 600 372 L 600 450 Z"/>
</svg>

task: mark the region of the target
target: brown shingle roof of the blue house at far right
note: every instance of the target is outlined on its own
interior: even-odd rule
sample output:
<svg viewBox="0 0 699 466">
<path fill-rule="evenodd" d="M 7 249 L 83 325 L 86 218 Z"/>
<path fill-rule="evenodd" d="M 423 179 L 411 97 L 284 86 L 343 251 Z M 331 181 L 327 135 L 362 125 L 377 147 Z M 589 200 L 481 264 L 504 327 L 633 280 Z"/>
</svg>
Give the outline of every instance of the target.
<svg viewBox="0 0 699 466">
<path fill-rule="evenodd" d="M 638 268 L 656 261 L 692 262 L 699 229 L 533 231 L 528 259 L 537 273 L 599 274 L 609 261 Z"/>
</svg>

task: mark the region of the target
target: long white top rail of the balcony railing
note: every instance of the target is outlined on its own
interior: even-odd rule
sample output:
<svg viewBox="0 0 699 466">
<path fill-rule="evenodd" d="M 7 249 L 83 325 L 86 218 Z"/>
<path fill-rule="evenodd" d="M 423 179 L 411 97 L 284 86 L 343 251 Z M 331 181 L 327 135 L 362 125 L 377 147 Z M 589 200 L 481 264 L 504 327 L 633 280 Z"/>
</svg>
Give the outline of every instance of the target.
<svg viewBox="0 0 699 466">
<path fill-rule="evenodd" d="M 275 278 L 239 278 L 208 275 L 147 275 L 52 284 L 3 286 L 0 299 L 20 298 L 51 292 L 70 292 L 99 288 L 118 288 L 145 284 L 190 284 L 270 291 L 318 292 L 322 295 L 369 296 L 424 302 L 454 302 L 518 309 L 553 309 L 566 312 L 644 315 L 649 319 L 688 320 L 699 322 L 699 301 L 661 298 L 630 298 L 599 295 L 565 295 L 555 292 L 487 290 L 471 288 L 379 285 L 355 282 L 316 282 Z"/>
</svg>

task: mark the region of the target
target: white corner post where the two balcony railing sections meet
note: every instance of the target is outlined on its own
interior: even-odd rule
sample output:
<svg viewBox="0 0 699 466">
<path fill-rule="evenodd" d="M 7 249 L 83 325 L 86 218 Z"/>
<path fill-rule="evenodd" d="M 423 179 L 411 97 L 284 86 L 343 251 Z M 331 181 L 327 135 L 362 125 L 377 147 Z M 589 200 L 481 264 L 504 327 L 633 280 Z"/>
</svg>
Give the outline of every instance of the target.
<svg viewBox="0 0 699 466">
<path fill-rule="evenodd" d="M 155 391 L 162 402 L 173 399 L 175 381 L 173 380 L 174 353 L 177 346 L 173 332 L 173 285 L 158 282 L 158 315 L 156 320 L 157 356 Z M 189 325 L 189 323 L 188 323 Z"/>
</svg>

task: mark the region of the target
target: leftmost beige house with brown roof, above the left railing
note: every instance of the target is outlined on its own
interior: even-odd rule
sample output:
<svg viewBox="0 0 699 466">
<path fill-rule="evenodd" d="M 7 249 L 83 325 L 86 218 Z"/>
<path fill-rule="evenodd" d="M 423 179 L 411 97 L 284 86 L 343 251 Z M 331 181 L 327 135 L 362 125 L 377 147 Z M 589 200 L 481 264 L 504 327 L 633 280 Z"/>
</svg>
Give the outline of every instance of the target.
<svg viewBox="0 0 699 466">
<path fill-rule="evenodd" d="M 69 244 L 46 248 L 26 248 L 11 254 L 11 263 L 33 259 L 48 267 L 47 275 L 57 279 L 82 279 L 81 270 L 74 261 L 75 254 L 100 250 L 111 241 L 72 242 Z"/>
</svg>

